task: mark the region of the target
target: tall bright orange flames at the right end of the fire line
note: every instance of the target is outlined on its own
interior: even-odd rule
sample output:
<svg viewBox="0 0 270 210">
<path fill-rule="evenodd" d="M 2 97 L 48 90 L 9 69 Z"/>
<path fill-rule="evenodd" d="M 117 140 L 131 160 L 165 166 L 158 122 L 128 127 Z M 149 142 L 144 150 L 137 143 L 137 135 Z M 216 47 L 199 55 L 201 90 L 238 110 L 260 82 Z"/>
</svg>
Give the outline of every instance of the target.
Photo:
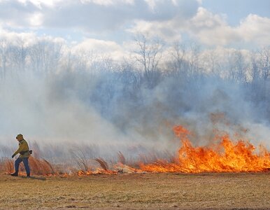
<svg viewBox="0 0 270 210">
<path fill-rule="evenodd" d="M 158 160 L 149 165 L 141 164 L 145 172 L 267 172 L 270 170 L 270 153 L 263 146 L 255 154 L 255 146 L 248 141 L 237 142 L 225 134 L 220 144 L 210 147 L 193 147 L 188 139 L 191 134 L 182 126 L 173 128 L 182 146 L 178 151 L 177 162 Z"/>
</svg>

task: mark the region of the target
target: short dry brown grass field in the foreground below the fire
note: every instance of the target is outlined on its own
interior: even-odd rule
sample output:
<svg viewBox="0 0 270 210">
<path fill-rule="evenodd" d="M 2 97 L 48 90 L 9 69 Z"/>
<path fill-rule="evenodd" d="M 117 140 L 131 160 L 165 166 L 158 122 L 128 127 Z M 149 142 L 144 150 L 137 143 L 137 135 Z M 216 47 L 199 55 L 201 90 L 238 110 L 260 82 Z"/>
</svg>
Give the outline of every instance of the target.
<svg viewBox="0 0 270 210">
<path fill-rule="evenodd" d="M 0 175 L 0 209 L 270 209 L 270 173 Z"/>
</svg>

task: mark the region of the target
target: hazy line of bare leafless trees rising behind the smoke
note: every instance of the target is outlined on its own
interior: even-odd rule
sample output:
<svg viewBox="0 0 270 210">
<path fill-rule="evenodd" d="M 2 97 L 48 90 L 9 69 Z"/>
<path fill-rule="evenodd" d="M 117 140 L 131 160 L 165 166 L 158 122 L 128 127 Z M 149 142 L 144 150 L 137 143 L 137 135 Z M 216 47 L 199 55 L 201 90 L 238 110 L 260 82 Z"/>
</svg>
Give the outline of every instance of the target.
<svg viewBox="0 0 270 210">
<path fill-rule="evenodd" d="M 195 43 L 169 45 L 142 34 L 134 41 L 136 48 L 130 56 L 115 61 L 110 56 L 83 49 L 74 51 L 52 41 L 27 45 L 22 40 L 9 43 L 2 39 L 0 80 L 20 77 L 21 73 L 66 75 L 65 80 L 58 81 L 68 83 L 63 88 L 76 89 L 78 97 L 119 127 L 125 127 L 126 121 L 119 120 L 118 110 L 126 111 L 125 116 L 132 115 L 131 111 L 140 113 L 149 109 L 152 112 L 149 104 L 148 109 L 144 106 L 145 90 L 151 92 L 162 87 L 167 104 L 160 102 L 162 106 L 158 107 L 169 113 L 176 107 L 182 111 L 191 109 L 191 102 L 183 98 L 183 90 L 185 98 L 199 100 L 201 87 L 213 82 L 236 85 L 243 90 L 243 98 L 265 109 L 265 116 L 270 117 L 270 48 L 253 52 L 228 49 L 220 53 Z M 80 81 L 79 86 L 76 80 Z M 157 116 L 157 113 L 151 114 Z M 143 120 L 143 116 L 139 118 Z"/>
</svg>

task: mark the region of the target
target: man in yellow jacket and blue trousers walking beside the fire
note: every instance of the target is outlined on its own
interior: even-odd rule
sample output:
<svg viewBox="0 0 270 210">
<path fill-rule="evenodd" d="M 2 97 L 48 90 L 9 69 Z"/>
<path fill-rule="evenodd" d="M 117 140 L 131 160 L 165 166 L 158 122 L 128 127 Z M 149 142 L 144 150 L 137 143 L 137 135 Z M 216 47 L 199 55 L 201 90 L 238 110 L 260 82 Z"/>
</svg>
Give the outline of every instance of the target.
<svg viewBox="0 0 270 210">
<path fill-rule="evenodd" d="M 19 158 L 17 158 L 17 160 L 15 160 L 15 173 L 10 174 L 10 175 L 17 176 L 19 172 L 20 163 L 23 162 L 25 171 L 27 172 L 27 177 L 30 177 L 30 168 L 28 165 L 28 158 L 30 157 L 31 153 L 29 151 L 27 141 L 24 140 L 24 137 L 22 136 L 22 134 L 18 134 L 16 139 L 17 141 L 19 141 L 19 148 L 12 155 L 12 158 L 14 158 L 15 155 L 17 155 L 18 153 L 20 153 L 20 156 Z"/>
</svg>

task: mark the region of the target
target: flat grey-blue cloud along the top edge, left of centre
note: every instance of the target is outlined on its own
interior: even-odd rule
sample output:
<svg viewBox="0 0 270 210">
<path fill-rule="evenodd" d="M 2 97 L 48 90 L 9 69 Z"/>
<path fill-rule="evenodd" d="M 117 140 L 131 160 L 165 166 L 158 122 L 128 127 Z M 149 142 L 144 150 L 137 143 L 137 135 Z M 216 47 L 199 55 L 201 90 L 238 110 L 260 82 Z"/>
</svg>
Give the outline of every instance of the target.
<svg viewBox="0 0 270 210">
<path fill-rule="evenodd" d="M 66 1 L 61 8 L 45 11 L 43 25 L 79 28 L 87 32 L 114 31 L 132 24 L 134 20 L 164 21 L 176 15 L 189 17 L 192 13 L 187 12 L 189 9 L 184 6 L 185 3 L 176 6 L 173 1 L 155 1 L 152 7 L 148 1 L 143 0 L 114 1 L 114 3 L 112 1 L 99 1 L 99 3 Z"/>
</svg>

